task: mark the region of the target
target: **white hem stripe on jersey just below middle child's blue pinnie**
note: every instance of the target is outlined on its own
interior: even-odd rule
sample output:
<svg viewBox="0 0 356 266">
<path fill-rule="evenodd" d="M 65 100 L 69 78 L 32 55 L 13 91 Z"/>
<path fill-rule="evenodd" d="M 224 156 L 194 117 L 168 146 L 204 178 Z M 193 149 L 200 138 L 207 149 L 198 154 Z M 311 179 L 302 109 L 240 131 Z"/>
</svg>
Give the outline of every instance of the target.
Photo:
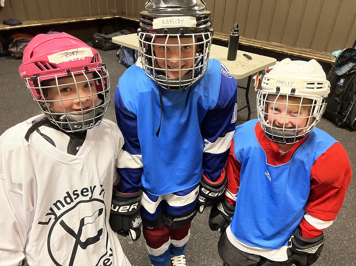
<svg viewBox="0 0 356 266">
<path fill-rule="evenodd" d="M 185 206 L 192 203 L 197 198 L 198 190 L 199 186 L 192 192 L 184 196 L 177 196 L 174 194 L 159 196 L 156 202 L 150 200 L 145 194 L 145 192 L 142 192 L 141 205 L 151 214 L 154 214 L 156 212 L 157 206 L 162 200 L 166 200 L 169 206 Z"/>
</svg>

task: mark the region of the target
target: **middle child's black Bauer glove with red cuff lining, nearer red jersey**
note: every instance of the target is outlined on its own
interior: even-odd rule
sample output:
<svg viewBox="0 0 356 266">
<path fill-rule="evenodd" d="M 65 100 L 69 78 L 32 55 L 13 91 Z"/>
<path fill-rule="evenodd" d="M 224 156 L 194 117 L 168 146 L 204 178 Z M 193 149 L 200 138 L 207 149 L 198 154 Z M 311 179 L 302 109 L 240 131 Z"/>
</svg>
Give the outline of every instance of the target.
<svg viewBox="0 0 356 266">
<path fill-rule="evenodd" d="M 220 198 L 224 196 L 224 191 L 226 188 L 227 176 L 225 169 L 221 173 L 218 181 L 211 182 L 203 174 L 200 179 L 199 195 L 197 202 L 197 210 L 201 214 L 203 213 L 205 207 L 216 205 Z"/>
</svg>

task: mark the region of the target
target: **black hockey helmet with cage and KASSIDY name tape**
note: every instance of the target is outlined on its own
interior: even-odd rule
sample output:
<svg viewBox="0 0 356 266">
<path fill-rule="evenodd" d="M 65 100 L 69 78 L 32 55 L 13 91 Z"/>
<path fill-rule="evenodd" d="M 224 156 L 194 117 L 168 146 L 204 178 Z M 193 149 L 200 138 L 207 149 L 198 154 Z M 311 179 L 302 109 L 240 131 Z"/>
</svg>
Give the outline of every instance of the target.
<svg viewBox="0 0 356 266">
<path fill-rule="evenodd" d="M 164 89 L 188 88 L 208 69 L 213 34 L 204 1 L 148 0 L 137 30 L 146 75 Z"/>
</svg>

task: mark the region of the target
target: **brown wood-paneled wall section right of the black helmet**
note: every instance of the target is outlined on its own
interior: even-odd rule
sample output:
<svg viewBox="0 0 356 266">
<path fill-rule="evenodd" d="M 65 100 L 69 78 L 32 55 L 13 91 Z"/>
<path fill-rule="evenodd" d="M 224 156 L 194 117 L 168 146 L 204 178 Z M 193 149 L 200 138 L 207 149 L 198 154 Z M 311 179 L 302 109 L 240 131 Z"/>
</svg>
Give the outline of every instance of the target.
<svg viewBox="0 0 356 266">
<path fill-rule="evenodd" d="M 216 32 L 335 51 L 356 39 L 355 0 L 206 0 Z"/>
</svg>

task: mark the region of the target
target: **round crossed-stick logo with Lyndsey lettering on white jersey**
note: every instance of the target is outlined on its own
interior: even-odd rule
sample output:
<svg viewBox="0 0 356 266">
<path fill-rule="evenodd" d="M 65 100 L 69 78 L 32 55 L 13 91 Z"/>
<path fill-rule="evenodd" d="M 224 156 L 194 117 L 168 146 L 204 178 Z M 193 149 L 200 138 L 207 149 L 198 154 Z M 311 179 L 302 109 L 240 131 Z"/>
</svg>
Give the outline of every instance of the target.
<svg viewBox="0 0 356 266">
<path fill-rule="evenodd" d="M 53 265 L 105 265 L 106 262 L 106 265 L 112 264 L 105 202 L 94 197 L 95 194 L 104 193 L 93 188 L 86 189 L 80 190 L 82 193 L 78 197 L 87 196 L 87 199 L 77 201 L 76 196 L 68 193 L 70 197 L 66 194 L 64 202 L 73 205 L 66 208 L 61 200 L 57 200 L 54 209 L 51 207 L 52 212 L 46 214 L 54 216 L 53 219 L 39 223 L 44 227 L 51 226 L 48 231 L 47 249 Z M 69 198 L 70 202 L 66 201 Z M 54 213 L 54 210 L 57 212 Z"/>
</svg>

